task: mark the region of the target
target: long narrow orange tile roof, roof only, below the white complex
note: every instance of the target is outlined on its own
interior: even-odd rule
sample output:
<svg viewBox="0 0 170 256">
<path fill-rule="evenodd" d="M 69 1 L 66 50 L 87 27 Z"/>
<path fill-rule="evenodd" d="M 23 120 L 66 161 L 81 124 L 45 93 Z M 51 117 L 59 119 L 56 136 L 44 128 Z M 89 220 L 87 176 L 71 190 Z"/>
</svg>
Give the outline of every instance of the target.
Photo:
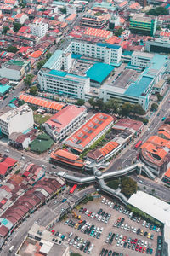
<svg viewBox="0 0 170 256">
<path fill-rule="evenodd" d="M 37 97 L 34 97 L 34 96 L 27 96 L 27 95 L 24 95 L 24 94 L 21 94 L 19 96 L 19 99 L 20 100 L 23 100 L 27 103 L 31 103 L 31 104 L 34 104 L 34 105 L 37 105 L 37 106 L 41 106 L 41 107 L 44 107 L 44 108 L 50 108 L 50 109 L 54 109 L 54 110 L 61 110 L 65 104 L 63 103 L 58 103 L 58 102 L 48 102 L 48 100 L 43 100 L 43 99 L 39 99 Z"/>
</svg>

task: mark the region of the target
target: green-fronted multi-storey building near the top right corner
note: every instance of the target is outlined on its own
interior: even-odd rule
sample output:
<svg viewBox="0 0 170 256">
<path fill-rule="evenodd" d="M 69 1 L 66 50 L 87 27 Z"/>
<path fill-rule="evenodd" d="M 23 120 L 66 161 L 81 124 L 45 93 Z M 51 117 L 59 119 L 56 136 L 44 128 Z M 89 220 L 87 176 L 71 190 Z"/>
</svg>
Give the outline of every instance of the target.
<svg viewBox="0 0 170 256">
<path fill-rule="evenodd" d="M 156 33 L 157 18 L 136 14 L 130 18 L 129 29 L 132 33 L 154 36 Z"/>
</svg>

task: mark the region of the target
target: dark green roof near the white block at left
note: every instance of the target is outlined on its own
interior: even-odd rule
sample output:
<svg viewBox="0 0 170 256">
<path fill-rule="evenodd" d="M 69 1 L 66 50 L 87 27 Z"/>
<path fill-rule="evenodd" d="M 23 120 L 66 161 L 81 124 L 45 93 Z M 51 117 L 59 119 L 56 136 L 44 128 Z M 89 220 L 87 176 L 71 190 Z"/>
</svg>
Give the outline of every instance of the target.
<svg viewBox="0 0 170 256">
<path fill-rule="evenodd" d="M 46 133 L 42 133 L 30 143 L 31 151 L 42 153 L 47 151 L 54 144 L 54 140 L 51 139 Z"/>
</svg>

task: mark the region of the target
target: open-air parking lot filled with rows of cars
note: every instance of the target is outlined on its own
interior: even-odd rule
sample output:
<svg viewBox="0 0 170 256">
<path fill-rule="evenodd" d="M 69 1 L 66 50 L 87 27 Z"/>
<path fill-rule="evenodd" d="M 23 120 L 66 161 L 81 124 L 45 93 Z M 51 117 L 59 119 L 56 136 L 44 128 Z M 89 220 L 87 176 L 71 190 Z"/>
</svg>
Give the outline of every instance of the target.
<svg viewBox="0 0 170 256">
<path fill-rule="evenodd" d="M 137 256 L 140 253 L 156 254 L 157 236 L 160 235 L 160 232 L 157 232 L 157 229 L 153 230 L 154 225 L 150 227 L 150 224 L 146 225 L 144 220 L 134 216 L 134 220 L 129 218 L 130 212 L 126 211 L 125 214 L 125 211 L 123 212 L 124 207 L 117 205 L 116 202 L 111 204 L 109 200 L 105 203 L 101 201 L 102 199 L 94 199 L 94 201 L 82 205 L 81 207 L 86 210 L 85 212 L 81 210 L 79 212 L 79 210 L 75 209 L 75 216 L 69 213 L 68 218 L 65 220 L 66 224 L 65 221 L 62 221 L 54 226 L 55 232 L 60 233 L 57 235 L 65 236 L 63 242 L 70 244 L 72 252 L 77 252 L 81 255 L 100 255 L 102 248 L 104 248 L 107 252 L 104 252 L 103 256 Z M 119 208 L 119 210 L 113 207 Z M 102 209 L 102 212 L 99 212 L 99 209 Z M 97 212 L 99 212 L 98 215 L 96 215 Z M 78 216 L 79 219 L 74 218 Z M 80 224 L 82 221 L 86 221 L 86 224 Z M 145 227 L 143 224 L 148 227 Z M 79 225 L 81 225 L 80 228 Z M 73 233 L 71 237 L 69 237 L 70 233 Z M 90 242 L 89 247 L 84 252 L 88 241 Z M 82 246 L 83 242 L 84 246 Z M 110 254 L 108 254 L 109 252 Z"/>
</svg>

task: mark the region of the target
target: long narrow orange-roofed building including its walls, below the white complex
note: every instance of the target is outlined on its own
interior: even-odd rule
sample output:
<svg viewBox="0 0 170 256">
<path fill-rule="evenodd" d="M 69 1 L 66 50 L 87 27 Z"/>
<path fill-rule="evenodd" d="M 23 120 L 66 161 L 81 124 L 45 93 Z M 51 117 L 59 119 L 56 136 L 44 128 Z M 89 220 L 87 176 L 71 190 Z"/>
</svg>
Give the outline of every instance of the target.
<svg viewBox="0 0 170 256">
<path fill-rule="evenodd" d="M 36 109 L 42 109 L 50 113 L 56 113 L 65 107 L 64 103 L 52 102 L 48 101 L 47 99 L 43 99 L 37 96 L 30 96 L 26 94 L 21 94 L 19 96 L 19 99 L 35 107 Z"/>
</svg>

